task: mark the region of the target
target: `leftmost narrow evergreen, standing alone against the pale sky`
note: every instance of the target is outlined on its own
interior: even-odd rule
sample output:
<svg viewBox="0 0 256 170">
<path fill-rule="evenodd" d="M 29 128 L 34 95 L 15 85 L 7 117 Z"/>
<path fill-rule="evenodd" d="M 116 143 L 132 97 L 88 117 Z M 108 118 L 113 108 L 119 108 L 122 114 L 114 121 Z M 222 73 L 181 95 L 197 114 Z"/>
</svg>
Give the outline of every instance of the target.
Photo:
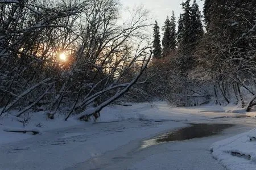
<svg viewBox="0 0 256 170">
<path fill-rule="evenodd" d="M 154 41 L 153 41 L 153 57 L 161 58 L 162 48 L 160 44 L 160 32 L 158 22 L 155 21 L 154 25 Z"/>
</svg>

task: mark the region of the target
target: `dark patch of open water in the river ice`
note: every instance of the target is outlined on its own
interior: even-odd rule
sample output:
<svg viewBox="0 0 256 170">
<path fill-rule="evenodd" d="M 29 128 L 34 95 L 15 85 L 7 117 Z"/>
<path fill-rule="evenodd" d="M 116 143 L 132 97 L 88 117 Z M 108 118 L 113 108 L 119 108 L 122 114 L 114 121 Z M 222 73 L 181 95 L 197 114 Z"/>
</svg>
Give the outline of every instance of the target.
<svg viewBox="0 0 256 170">
<path fill-rule="evenodd" d="M 222 130 L 231 128 L 232 124 L 190 124 L 191 126 L 177 129 L 142 142 L 141 148 L 159 145 L 163 142 L 184 141 L 193 138 L 209 137 L 221 133 Z"/>
</svg>

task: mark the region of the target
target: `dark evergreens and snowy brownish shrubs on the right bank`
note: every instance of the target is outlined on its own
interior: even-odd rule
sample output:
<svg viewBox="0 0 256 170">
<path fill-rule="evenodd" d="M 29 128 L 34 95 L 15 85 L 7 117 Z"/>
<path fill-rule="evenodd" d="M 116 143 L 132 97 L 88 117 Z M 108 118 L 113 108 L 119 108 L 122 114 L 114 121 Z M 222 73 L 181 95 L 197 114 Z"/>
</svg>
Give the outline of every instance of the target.
<svg viewBox="0 0 256 170">
<path fill-rule="evenodd" d="M 158 78 L 166 86 L 152 79 L 158 96 L 181 106 L 232 103 L 250 111 L 256 104 L 255 1 L 205 0 L 204 15 L 196 1 L 181 6 L 176 50 L 162 54 L 166 68 L 160 61 L 152 64 L 164 70 Z"/>
</svg>

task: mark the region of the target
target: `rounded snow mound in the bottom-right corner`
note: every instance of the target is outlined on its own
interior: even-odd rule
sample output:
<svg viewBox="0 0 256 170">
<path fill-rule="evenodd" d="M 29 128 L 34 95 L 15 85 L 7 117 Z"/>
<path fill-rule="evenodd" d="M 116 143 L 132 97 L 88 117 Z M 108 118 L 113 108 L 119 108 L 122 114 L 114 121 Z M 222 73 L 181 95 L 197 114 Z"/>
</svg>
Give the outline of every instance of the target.
<svg viewBox="0 0 256 170">
<path fill-rule="evenodd" d="M 213 143 L 212 155 L 227 169 L 256 169 L 256 128 Z"/>
</svg>

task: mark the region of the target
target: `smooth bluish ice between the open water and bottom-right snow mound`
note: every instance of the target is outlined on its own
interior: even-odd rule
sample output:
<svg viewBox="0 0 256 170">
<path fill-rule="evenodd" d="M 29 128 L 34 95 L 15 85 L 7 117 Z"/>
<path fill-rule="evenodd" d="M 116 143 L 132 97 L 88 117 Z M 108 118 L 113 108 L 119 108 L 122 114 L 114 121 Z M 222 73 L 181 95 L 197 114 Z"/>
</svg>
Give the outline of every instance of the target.
<svg viewBox="0 0 256 170">
<path fill-rule="evenodd" d="M 143 143 L 132 141 L 117 150 L 86 160 L 65 170 L 76 169 L 225 169 L 212 158 L 209 145 L 212 142 L 241 133 L 247 128 L 237 127 L 208 138 L 168 142 L 144 149 Z"/>
</svg>

